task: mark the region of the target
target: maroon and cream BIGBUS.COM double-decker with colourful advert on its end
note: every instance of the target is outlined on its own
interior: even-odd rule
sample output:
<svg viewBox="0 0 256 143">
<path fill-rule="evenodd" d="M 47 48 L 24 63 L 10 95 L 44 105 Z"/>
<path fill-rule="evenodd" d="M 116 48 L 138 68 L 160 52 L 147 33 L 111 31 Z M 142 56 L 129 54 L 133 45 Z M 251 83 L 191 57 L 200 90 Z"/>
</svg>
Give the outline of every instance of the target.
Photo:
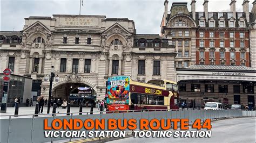
<svg viewBox="0 0 256 143">
<path fill-rule="evenodd" d="M 168 80 L 135 82 L 129 76 L 107 81 L 106 105 L 109 111 L 178 109 L 178 86 Z"/>
</svg>

